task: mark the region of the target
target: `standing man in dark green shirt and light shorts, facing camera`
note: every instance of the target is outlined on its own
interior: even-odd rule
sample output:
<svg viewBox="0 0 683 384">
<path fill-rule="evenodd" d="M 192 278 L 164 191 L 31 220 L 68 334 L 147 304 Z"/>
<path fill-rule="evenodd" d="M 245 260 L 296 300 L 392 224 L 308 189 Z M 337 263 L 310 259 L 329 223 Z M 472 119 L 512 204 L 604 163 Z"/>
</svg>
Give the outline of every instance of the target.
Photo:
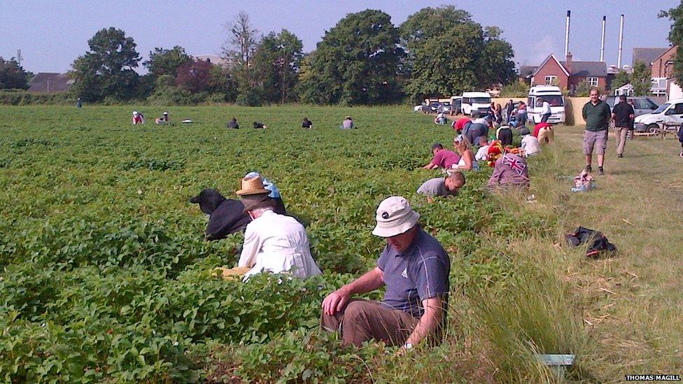
<svg viewBox="0 0 683 384">
<path fill-rule="evenodd" d="M 584 132 L 584 155 L 586 155 L 586 172 L 591 172 L 593 162 L 593 148 L 598 153 L 598 175 L 604 175 L 605 148 L 607 148 L 607 125 L 610 122 L 610 106 L 600 100 L 600 91 L 591 90 L 591 101 L 584 105 L 582 116 L 586 121 Z"/>
</svg>

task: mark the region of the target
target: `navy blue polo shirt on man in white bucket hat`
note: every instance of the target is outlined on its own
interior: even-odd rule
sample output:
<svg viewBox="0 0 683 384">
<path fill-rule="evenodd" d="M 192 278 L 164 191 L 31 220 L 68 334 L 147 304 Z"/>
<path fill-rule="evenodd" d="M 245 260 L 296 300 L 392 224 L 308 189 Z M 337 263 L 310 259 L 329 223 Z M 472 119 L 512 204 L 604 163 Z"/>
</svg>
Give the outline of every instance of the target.
<svg viewBox="0 0 683 384">
<path fill-rule="evenodd" d="M 384 273 L 383 304 L 415 317 L 424 313 L 422 301 L 449 292 L 451 260 L 439 241 L 418 228 L 402 253 L 387 246 L 377 259 Z"/>
</svg>

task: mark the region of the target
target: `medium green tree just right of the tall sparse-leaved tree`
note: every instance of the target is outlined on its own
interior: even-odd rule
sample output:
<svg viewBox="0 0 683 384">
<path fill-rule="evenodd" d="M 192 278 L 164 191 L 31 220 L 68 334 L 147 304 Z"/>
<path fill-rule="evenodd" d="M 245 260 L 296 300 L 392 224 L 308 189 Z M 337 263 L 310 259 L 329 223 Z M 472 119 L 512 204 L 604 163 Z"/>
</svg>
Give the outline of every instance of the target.
<svg viewBox="0 0 683 384">
<path fill-rule="evenodd" d="M 295 34 L 283 29 L 265 36 L 255 54 L 255 71 L 265 101 L 284 103 L 296 99 L 293 92 L 303 57 L 304 45 Z"/>
</svg>

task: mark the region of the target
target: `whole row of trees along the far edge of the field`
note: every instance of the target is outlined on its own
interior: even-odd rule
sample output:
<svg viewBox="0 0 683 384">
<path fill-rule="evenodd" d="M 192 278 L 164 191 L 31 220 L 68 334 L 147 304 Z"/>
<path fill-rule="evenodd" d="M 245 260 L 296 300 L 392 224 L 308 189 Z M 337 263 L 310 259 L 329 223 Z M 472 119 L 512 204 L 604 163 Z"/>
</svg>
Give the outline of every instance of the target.
<svg viewBox="0 0 683 384">
<path fill-rule="evenodd" d="M 399 26 L 381 10 L 350 13 L 309 53 L 286 29 L 262 36 L 244 12 L 227 31 L 219 64 L 195 59 L 180 46 L 155 48 L 141 62 L 125 31 L 101 29 L 72 64 L 70 92 L 90 102 L 376 105 L 483 90 L 516 78 L 514 51 L 502 31 L 482 27 L 453 6 L 423 8 Z M 140 64 L 148 74 L 136 72 Z"/>
</svg>

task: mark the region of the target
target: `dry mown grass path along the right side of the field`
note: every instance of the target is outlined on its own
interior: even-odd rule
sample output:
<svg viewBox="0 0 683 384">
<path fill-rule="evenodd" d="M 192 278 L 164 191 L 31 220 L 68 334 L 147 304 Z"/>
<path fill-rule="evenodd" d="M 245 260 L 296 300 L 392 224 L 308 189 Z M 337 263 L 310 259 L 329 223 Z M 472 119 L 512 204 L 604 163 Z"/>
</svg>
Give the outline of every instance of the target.
<svg viewBox="0 0 683 384">
<path fill-rule="evenodd" d="M 574 175 L 584 166 L 583 130 L 560 127 L 557 131 L 556 153 L 542 166 L 543 177 L 537 173 L 534 179 L 537 208 L 556 212 L 565 232 L 579 225 L 598 229 L 619 248 L 618 257 L 612 259 L 581 259 L 558 266 L 593 341 L 584 369 L 600 382 L 623 381 L 624 374 L 681 374 L 680 144 L 673 139 L 638 138 L 628 141 L 624 158 L 618 159 L 610 134 L 606 175 L 596 178 L 598 190 L 571 194 L 571 180 L 556 176 Z"/>
</svg>

